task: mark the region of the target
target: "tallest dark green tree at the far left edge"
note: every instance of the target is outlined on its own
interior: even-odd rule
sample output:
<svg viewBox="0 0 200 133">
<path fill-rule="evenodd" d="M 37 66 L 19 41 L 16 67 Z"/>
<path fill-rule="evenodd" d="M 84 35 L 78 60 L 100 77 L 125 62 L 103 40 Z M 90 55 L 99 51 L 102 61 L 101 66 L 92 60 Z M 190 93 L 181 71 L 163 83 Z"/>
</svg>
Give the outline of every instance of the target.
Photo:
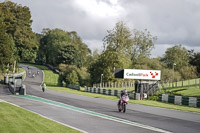
<svg viewBox="0 0 200 133">
<path fill-rule="evenodd" d="M 28 7 L 6 1 L 0 3 L 6 32 L 13 40 L 18 60 L 34 61 L 38 49 L 37 39 L 31 29 L 31 13 Z"/>
</svg>

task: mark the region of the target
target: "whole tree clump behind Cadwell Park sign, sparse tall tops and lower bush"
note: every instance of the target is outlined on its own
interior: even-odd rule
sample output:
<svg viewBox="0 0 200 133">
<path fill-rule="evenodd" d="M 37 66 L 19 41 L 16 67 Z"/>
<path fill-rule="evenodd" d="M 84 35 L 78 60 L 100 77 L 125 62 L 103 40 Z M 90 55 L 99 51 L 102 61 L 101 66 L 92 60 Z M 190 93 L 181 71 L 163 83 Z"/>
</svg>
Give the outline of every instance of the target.
<svg viewBox="0 0 200 133">
<path fill-rule="evenodd" d="M 138 61 L 149 57 L 155 40 L 147 30 L 134 30 L 132 34 L 123 22 L 116 23 L 103 40 L 104 51 L 89 67 L 91 82 L 99 83 L 101 74 L 104 82 L 114 80 L 114 68 L 144 67 Z"/>
</svg>

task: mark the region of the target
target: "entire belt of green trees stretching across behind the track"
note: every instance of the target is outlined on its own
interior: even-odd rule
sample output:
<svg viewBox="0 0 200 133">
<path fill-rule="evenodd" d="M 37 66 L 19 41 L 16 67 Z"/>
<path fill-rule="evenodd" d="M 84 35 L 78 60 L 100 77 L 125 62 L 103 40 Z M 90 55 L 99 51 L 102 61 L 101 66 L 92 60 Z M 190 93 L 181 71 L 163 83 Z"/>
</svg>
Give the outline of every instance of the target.
<svg viewBox="0 0 200 133">
<path fill-rule="evenodd" d="M 179 44 L 150 58 L 157 37 L 122 21 L 107 31 L 103 51 L 91 51 L 76 31 L 46 28 L 34 33 L 31 24 L 28 7 L 0 3 L 0 73 L 16 71 L 19 62 L 27 61 L 51 64 L 60 70 L 61 81 L 81 86 L 100 83 L 101 74 L 103 82 L 120 80 L 114 78 L 117 68 L 161 70 L 163 81 L 199 77 L 199 52 Z"/>
</svg>

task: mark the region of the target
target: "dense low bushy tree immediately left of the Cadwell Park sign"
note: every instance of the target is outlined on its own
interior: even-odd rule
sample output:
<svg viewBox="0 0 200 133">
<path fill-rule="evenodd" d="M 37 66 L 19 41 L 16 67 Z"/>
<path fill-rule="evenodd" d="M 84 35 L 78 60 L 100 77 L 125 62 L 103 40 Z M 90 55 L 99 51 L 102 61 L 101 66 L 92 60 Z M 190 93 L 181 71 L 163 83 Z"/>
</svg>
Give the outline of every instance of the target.
<svg viewBox="0 0 200 133">
<path fill-rule="evenodd" d="M 104 51 L 99 58 L 89 67 L 91 83 L 100 83 L 100 75 L 103 74 L 103 81 L 114 80 L 115 68 L 129 68 L 131 62 L 126 56 L 116 51 Z"/>
</svg>

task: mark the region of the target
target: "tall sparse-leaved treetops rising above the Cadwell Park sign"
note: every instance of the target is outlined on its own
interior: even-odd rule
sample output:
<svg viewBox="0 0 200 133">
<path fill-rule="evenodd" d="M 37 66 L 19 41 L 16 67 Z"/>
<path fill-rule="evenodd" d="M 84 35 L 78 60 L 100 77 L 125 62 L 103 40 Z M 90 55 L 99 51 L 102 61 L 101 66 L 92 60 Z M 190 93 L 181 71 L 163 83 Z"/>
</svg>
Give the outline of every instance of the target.
<svg viewBox="0 0 200 133">
<path fill-rule="evenodd" d="M 103 40 L 104 51 L 124 54 L 135 67 L 140 59 L 150 56 L 156 39 L 157 37 L 153 37 L 147 29 L 144 31 L 135 29 L 131 33 L 123 22 L 118 22 L 113 30 L 108 31 L 108 35 Z"/>
</svg>

